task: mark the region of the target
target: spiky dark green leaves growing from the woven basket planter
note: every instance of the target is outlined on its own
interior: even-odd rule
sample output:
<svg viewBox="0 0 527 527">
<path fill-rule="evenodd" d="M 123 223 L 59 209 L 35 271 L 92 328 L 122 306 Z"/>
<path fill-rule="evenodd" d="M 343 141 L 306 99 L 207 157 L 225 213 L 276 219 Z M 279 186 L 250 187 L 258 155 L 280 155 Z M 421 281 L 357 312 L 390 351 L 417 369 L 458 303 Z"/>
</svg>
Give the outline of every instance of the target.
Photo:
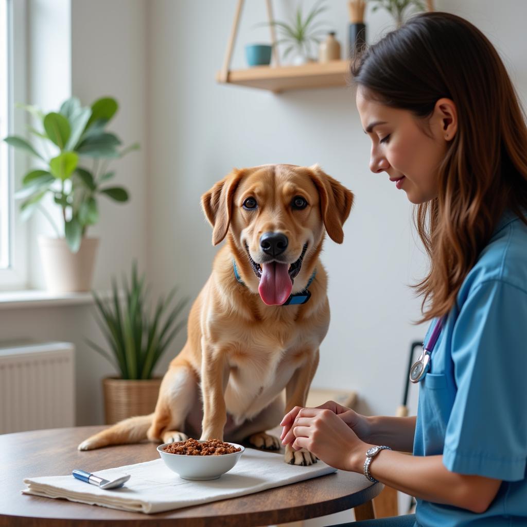
<svg viewBox="0 0 527 527">
<path fill-rule="evenodd" d="M 112 278 L 112 298 L 109 305 L 92 290 L 99 317 L 97 324 L 108 342 L 111 354 L 85 339 L 97 353 L 108 359 L 121 372 L 123 379 L 150 379 L 155 364 L 167 350 L 172 339 L 186 324 L 186 320 L 175 323 L 188 299 L 179 300 L 164 316 L 173 300 L 177 288 L 173 288 L 166 299 L 160 298 L 152 315 L 147 306 L 147 290 L 144 289 L 144 274 L 138 278 L 137 264 L 132 263 L 130 285 L 123 277 L 124 307 L 115 278 Z M 162 322 L 162 319 L 164 321 Z"/>
</svg>

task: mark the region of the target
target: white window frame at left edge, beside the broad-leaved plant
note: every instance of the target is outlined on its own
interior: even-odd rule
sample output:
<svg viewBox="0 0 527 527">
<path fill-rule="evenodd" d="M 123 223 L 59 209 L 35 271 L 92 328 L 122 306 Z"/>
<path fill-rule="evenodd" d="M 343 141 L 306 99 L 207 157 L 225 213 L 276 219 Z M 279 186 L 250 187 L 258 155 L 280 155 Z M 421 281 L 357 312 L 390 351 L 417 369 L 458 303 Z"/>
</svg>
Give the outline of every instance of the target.
<svg viewBox="0 0 527 527">
<path fill-rule="evenodd" d="M 27 102 L 27 1 L 3 0 L 7 7 L 7 133 L 26 136 L 25 112 L 15 109 L 15 103 Z M 3 138 L 2 138 L 3 139 Z M 28 288 L 27 233 L 28 223 L 22 222 L 15 202 L 15 187 L 28 168 L 27 155 L 15 152 L 2 141 L 0 148 L 7 160 L 8 189 L 8 246 L 6 268 L 0 268 L 0 290 L 13 291 Z"/>
</svg>

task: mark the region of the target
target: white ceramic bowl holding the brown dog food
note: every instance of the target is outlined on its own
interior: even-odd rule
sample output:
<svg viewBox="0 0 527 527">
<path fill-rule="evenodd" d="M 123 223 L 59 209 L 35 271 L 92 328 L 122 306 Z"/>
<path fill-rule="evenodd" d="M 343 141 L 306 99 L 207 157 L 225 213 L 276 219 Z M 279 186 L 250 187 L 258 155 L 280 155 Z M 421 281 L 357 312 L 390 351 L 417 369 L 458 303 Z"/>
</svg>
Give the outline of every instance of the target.
<svg viewBox="0 0 527 527">
<path fill-rule="evenodd" d="M 200 442 L 201 443 L 201 442 Z M 241 448 L 233 454 L 217 456 L 188 456 L 184 454 L 170 454 L 163 452 L 163 448 L 171 443 L 158 446 L 158 452 L 165 465 L 184 480 L 217 480 L 222 474 L 229 472 L 238 463 L 245 447 L 236 443 L 229 445 Z"/>
</svg>

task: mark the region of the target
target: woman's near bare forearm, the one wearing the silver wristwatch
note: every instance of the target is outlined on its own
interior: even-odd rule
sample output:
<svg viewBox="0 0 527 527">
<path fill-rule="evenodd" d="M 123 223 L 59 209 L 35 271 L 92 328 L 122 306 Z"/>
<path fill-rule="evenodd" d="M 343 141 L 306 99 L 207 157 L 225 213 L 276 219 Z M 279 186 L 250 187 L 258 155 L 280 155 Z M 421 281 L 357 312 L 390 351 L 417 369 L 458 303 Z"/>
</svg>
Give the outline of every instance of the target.
<svg viewBox="0 0 527 527">
<path fill-rule="evenodd" d="M 352 455 L 351 470 L 362 472 L 365 454 Z M 409 456 L 389 450 L 380 451 L 373 458 L 369 472 L 380 482 L 411 496 L 477 513 L 488 508 L 501 484 L 483 476 L 450 472 L 441 455 Z"/>
</svg>

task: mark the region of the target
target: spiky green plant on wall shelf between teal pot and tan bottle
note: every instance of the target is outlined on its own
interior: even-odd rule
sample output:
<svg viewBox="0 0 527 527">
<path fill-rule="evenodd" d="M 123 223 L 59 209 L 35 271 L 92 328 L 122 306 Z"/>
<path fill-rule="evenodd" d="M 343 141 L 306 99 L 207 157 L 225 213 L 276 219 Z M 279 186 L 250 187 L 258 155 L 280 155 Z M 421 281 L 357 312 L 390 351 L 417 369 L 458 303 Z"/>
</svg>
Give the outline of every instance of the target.
<svg viewBox="0 0 527 527">
<path fill-rule="evenodd" d="M 284 58 L 287 58 L 292 51 L 296 51 L 297 55 L 304 57 L 305 60 L 310 60 L 311 45 L 319 44 L 319 35 L 326 34 L 328 31 L 327 28 L 320 27 L 321 24 L 324 24 L 323 22 L 316 21 L 317 16 L 326 11 L 326 9 L 324 0 L 318 2 L 304 18 L 302 5 L 300 3 L 296 10 L 296 16 L 291 23 L 276 20 L 268 23 L 269 25 L 276 26 L 281 33 L 282 38 L 276 43 L 289 44 L 284 51 Z"/>
</svg>

